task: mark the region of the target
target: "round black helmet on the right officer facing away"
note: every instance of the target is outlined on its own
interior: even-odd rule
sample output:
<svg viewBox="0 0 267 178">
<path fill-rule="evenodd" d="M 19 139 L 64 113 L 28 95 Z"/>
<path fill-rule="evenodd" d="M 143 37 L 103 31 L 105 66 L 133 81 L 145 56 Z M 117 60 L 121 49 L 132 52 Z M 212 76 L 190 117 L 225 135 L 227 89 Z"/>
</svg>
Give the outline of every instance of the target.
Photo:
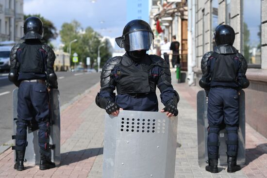
<svg viewBox="0 0 267 178">
<path fill-rule="evenodd" d="M 229 25 L 219 25 L 214 32 L 214 39 L 217 46 L 222 44 L 233 45 L 234 36 L 234 29 Z"/>
</svg>

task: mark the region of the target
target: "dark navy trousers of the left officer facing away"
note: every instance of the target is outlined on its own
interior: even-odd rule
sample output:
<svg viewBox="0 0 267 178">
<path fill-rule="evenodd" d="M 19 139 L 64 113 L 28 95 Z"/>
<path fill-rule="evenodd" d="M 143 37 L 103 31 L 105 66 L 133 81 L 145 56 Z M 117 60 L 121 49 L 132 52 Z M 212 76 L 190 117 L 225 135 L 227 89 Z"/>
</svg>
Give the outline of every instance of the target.
<svg viewBox="0 0 267 178">
<path fill-rule="evenodd" d="M 42 83 L 22 82 L 17 93 L 16 150 L 27 146 L 27 124 L 32 119 L 38 123 L 40 153 L 50 156 L 49 104 L 47 88 Z"/>
</svg>

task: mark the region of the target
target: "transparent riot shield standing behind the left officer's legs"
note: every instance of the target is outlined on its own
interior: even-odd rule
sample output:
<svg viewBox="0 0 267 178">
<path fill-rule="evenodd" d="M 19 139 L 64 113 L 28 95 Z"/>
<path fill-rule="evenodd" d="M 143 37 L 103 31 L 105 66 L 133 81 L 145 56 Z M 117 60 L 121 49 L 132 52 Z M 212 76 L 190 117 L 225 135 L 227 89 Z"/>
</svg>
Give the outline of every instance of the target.
<svg viewBox="0 0 267 178">
<path fill-rule="evenodd" d="M 60 108 L 59 108 L 59 91 L 51 89 L 49 94 L 51 128 L 50 128 L 50 145 L 51 160 L 55 164 L 60 164 Z M 34 111 L 33 111 L 34 112 Z M 17 121 L 17 89 L 13 90 L 13 130 L 16 135 L 16 121 Z M 24 165 L 35 165 L 40 163 L 40 153 L 38 145 L 38 125 L 33 119 L 28 124 L 27 128 L 27 142 Z M 14 146 L 16 145 L 14 140 Z M 16 153 L 14 151 L 14 157 Z M 15 161 L 15 159 L 14 159 Z"/>
</svg>

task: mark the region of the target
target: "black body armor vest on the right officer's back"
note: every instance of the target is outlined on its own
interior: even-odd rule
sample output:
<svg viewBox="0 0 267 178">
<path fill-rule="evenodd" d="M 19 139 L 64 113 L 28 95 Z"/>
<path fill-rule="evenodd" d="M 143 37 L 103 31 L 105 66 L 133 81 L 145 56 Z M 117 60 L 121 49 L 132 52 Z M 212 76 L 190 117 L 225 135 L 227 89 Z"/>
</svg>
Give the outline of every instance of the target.
<svg viewBox="0 0 267 178">
<path fill-rule="evenodd" d="M 236 54 L 222 55 L 214 52 L 212 60 L 216 60 L 211 71 L 212 81 L 236 81 L 238 67 L 234 65 Z"/>
</svg>

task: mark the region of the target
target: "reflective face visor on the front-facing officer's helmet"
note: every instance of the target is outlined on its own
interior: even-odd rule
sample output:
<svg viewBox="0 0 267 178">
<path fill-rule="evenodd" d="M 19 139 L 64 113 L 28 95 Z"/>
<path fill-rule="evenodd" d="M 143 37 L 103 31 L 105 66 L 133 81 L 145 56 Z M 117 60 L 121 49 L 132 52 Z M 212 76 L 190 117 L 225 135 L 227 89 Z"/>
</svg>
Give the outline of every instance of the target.
<svg viewBox="0 0 267 178">
<path fill-rule="evenodd" d="M 153 34 L 147 31 L 137 31 L 125 35 L 124 49 L 127 51 L 154 49 Z"/>
</svg>

